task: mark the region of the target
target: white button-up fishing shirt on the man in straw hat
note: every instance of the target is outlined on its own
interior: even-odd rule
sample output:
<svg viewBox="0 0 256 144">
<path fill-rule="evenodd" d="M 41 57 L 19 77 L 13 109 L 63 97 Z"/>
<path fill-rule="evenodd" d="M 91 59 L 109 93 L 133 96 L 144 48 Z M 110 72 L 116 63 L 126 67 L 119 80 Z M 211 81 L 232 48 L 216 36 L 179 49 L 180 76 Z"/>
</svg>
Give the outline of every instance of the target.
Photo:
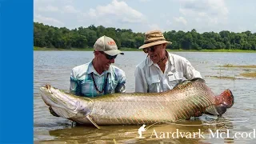
<svg viewBox="0 0 256 144">
<path fill-rule="evenodd" d="M 152 93 L 172 90 L 184 78 L 191 80 L 202 78 L 190 62 L 181 56 L 168 53 L 165 72 L 158 64 L 146 57 L 135 69 L 135 92 Z"/>
</svg>

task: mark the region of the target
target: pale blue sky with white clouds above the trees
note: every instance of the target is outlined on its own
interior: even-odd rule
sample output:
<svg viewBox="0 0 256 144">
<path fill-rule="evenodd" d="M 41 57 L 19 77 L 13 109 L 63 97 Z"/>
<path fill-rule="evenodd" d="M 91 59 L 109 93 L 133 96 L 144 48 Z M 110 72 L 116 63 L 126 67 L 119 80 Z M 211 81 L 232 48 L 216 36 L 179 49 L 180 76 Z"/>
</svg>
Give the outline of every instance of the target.
<svg viewBox="0 0 256 144">
<path fill-rule="evenodd" d="M 34 0 L 34 22 L 74 28 L 256 32 L 254 0 Z"/>
</svg>

